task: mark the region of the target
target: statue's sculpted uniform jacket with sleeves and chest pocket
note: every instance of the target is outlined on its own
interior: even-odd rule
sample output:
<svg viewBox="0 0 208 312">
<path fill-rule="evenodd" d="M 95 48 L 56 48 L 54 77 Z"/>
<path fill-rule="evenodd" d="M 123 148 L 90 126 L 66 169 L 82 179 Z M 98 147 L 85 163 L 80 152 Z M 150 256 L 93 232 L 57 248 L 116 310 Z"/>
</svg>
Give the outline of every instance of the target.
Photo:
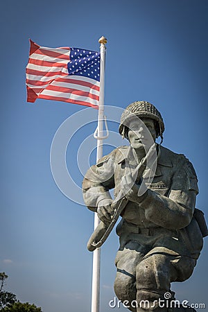
<svg viewBox="0 0 208 312">
<path fill-rule="evenodd" d="M 202 249 L 202 234 L 193 217 L 198 194 L 196 172 L 184 155 L 162 146 L 157 148 L 153 180 L 138 202 L 128 202 L 116 232 L 123 246 L 130 240 L 142 244 L 146 241 L 152 248 L 154 245 L 168 254 L 197 259 Z M 117 196 L 127 166 L 133 170 L 137 162 L 131 147 L 121 146 L 89 168 L 83 180 L 83 197 L 90 210 L 96 211 L 98 202 L 111 198 L 110 189 Z"/>
</svg>

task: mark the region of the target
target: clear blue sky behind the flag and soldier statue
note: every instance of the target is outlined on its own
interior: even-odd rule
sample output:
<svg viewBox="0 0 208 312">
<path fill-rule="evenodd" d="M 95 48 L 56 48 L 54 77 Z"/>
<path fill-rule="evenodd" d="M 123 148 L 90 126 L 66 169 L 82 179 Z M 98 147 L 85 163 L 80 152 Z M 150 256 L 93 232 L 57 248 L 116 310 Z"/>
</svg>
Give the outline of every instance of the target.
<svg viewBox="0 0 208 312">
<path fill-rule="evenodd" d="M 50 167 L 55 132 L 85 107 L 26 103 L 28 38 L 41 46 L 98 51 L 98 38 L 105 35 L 105 105 L 124 108 L 144 100 L 159 109 L 166 125 L 163 145 L 193 163 L 200 188 L 197 207 L 208 215 L 207 10 L 205 0 L 1 3 L 0 271 L 9 275 L 7 289 L 19 300 L 42 306 L 44 312 L 90 311 L 92 277 L 86 243 L 93 214 L 63 195 Z M 117 131 L 118 124 L 109 126 Z M 77 150 L 95 128 L 90 123 L 80 129 L 67 150 L 67 166 L 79 187 L 83 177 Z M 83 153 L 80 162 L 87 168 L 95 153 L 90 160 Z M 114 297 L 118 246 L 112 233 L 101 251 L 101 312 L 112 311 L 108 302 Z M 208 305 L 207 256 L 205 239 L 193 276 L 172 287 L 179 300 Z"/>
</svg>

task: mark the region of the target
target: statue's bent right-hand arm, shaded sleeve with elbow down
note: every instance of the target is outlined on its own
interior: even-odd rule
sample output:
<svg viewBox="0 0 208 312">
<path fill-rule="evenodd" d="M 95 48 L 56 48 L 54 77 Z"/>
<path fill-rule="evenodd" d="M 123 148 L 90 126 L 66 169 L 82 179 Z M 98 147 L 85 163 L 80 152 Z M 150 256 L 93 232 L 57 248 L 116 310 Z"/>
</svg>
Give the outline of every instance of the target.
<svg viewBox="0 0 208 312">
<path fill-rule="evenodd" d="M 182 160 L 172 181 L 168 197 L 148 189 L 140 207 L 153 223 L 168 229 L 180 229 L 191 222 L 198 194 L 196 173 L 188 159 Z"/>
</svg>

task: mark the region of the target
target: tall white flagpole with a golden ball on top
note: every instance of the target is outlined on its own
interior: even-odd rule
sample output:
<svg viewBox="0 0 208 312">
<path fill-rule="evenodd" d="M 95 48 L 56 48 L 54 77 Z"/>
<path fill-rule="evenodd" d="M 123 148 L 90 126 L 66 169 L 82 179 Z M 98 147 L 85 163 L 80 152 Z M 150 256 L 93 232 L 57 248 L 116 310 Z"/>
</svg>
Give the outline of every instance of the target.
<svg viewBox="0 0 208 312">
<path fill-rule="evenodd" d="M 104 119 L 104 85 L 105 85 L 105 44 L 107 40 L 101 37 L 98 42 L 101 44 L 101 66 L 100 66 L 100 97 L 98 108 L 98 132 L 97 132 L 97 157 L 103 157 L 103 119 Z M 94 214 L 94 229 L 98 226 L 99 218 Z M 101 250 L 97 248 L 93 252 L 92 264 L 92 312 L 99 312 L 100 308 L 100 272 L 101 272 Z"/>
</svg>

